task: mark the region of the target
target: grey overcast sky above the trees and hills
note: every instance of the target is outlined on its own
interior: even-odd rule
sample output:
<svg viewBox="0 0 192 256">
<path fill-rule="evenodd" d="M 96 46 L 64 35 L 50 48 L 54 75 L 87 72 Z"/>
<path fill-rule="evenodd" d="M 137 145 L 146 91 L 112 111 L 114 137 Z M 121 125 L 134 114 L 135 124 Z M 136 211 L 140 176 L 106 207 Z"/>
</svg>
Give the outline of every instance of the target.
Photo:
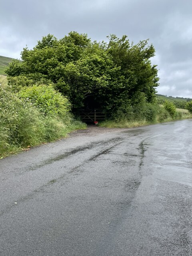
<svg viewBox="0 0 192 256">
<path fill-rule="evenodd" d="M 62 38 L 77 31 L 98 41 L 126 34 L 135 44 L 149 38 L 158 93 L 192 98 L 191 0 L 5 0 L 0 24 L 0 55 L 11 58 L 48 33 Z"/>
</svg>

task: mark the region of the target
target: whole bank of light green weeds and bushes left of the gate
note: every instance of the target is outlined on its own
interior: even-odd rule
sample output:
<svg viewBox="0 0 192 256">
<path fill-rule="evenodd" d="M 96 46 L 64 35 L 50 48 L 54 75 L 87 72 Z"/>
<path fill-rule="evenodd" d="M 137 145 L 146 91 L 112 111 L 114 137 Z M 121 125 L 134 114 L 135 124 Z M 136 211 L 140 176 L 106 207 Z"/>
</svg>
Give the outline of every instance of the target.
<svg viewBox="0 0 192 256">
<path fill-rule="evenodd" d="M 30 86 L 18 93 L 0 86 L 0 158 L 22 148 L 51 142 L 86 125 L 74 120 L 70 103 L 52 86 Z"/>
</svg>

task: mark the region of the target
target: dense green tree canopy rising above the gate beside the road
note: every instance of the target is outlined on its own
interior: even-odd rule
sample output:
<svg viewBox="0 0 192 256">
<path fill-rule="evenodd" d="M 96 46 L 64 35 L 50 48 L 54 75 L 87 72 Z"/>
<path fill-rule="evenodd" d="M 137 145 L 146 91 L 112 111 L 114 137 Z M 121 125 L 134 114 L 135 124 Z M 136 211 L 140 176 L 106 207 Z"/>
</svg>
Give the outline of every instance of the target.
<svg viewBox="0 0 192 256">
<path fill-rule="evenodd" d="M 154 102 L 158 76 L 151 58 L 154 47 L 148 40 L 134 45 L 126 36 L 92 42 L 86 34 L 70 32 L 58 40 L 48 34 L 29 50 L 22 62 L 15 60 L 6 73 L 33 83 L 52 83 L 67 96 L 74 109 L 96 104 L 117 109 L 140 101 Z M 16 79 L 17 80 L 17 79 Z"/>
</svg>

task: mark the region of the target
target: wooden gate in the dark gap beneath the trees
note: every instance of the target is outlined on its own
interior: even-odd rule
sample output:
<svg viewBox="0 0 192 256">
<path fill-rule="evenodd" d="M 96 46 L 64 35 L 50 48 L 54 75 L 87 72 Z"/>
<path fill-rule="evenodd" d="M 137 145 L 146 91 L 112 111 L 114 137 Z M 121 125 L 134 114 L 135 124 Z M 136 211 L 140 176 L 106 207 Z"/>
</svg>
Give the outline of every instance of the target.
<svg viewBox="0 0 192 256">
<path fill-rule="evenodd" d="M 81 120 L 85 123 L 94 123 L 106 119 L 106 114 L 103 113 L 101 109 L 92 109 L 92 110 L 79 110 L 79 116 Z"/>
</svg>

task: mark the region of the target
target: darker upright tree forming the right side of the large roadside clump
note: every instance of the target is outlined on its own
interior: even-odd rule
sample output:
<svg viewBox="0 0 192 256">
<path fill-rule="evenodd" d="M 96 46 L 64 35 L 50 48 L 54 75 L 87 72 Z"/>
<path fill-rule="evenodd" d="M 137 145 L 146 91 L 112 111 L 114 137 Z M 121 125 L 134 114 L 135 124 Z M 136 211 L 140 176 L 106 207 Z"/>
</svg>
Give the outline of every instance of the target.
<svg viewBox="0 0 192 256">
<path fill-rule="evenodd" d="M 154 46 L 148 45 L 148 40 L 140 41 L 136 45 L 133 42 L 130 44 L 127 36 L 117 38 L 111 35 L 108 38 L 110 41 L 107 52 L 114 63 L 121 67 L 125 90 L 132 102 L 138 102 L 142 92 L 147 102 L 154 102 L 159 80 L 156 65 L 152 65 L 150 60 L 155 55 Z"/>
</svg>

